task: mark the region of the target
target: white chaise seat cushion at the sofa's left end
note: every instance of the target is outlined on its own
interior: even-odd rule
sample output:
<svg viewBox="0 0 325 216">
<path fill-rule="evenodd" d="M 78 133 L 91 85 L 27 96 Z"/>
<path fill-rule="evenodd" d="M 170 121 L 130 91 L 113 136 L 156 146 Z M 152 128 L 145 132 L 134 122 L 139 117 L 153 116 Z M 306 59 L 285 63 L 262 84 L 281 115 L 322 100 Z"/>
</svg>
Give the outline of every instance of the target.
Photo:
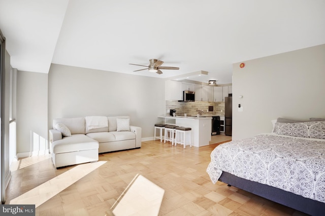
<svg viewBox="0 0 325 216">
<path fill-rule="evenodd" d="M 84 134 L 75 134 L 71 137 L 63 137 L 52 143 L 51 152 L 54 154 L 98 149 L 98 142 Z"/>
</svg>

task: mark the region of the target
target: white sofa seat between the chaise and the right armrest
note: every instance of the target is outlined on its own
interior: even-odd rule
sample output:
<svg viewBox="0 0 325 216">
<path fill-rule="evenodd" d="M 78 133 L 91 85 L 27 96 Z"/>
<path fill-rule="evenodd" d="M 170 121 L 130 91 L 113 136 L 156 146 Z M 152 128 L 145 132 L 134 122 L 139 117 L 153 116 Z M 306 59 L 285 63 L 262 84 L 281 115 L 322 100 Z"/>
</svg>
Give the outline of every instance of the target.
<svg viewBox="0 0 325 216">
<path fill-rule="evenodd" d="M 89 133 L 89 134 L 87 134 L 87 136 L 98 141 L 99 143 L 136 139 L 135 133 L 127 132 L 127 131 Z"/>
</svg>

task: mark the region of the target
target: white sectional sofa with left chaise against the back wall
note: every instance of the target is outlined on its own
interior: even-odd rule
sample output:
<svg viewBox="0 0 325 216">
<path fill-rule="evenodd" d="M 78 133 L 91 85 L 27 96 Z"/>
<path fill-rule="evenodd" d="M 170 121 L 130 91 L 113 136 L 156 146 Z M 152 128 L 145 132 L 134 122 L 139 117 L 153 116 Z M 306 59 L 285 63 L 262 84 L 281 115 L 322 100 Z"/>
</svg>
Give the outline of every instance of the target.
<svg viewBox="0 0 325 216">
<path fill-rule="evenodd" d="M 49 130 L 55 167 L 98 161 L 99 153 L 141 148 L 141 127 L 128 116 L 53 119 Z"/>
</svg>

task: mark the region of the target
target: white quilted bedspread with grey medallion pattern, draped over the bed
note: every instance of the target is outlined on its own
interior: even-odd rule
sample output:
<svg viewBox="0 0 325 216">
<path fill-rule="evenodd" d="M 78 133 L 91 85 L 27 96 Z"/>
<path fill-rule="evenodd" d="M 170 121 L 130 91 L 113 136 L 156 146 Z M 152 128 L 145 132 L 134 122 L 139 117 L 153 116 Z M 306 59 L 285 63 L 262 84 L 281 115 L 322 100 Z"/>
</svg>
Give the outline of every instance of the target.
<svg viewBox="0 0 325 216">
<path fill-rule="evenodd" d="M 325 140 L 261 134 L 217 146 L 207 172 L 222 171 L 325 203 Z"/>
</svg>

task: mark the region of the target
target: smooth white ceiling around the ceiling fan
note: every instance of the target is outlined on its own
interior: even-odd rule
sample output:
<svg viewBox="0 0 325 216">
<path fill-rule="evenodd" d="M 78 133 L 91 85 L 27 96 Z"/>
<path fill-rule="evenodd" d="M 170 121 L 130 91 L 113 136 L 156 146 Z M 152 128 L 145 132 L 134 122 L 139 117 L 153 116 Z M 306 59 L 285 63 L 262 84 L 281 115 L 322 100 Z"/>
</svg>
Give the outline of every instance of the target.
<svg viewBox="0 0 325 216">
<path fill-rule="evenodd" d="M 232 64 L 325 44 L 324 0 L 0 0 L 11 65 L 50 64 L 153 77 L 208 71 L 232 82 Z M 128 63 L 180 67 L 163 74 Z"/>
</svg>

